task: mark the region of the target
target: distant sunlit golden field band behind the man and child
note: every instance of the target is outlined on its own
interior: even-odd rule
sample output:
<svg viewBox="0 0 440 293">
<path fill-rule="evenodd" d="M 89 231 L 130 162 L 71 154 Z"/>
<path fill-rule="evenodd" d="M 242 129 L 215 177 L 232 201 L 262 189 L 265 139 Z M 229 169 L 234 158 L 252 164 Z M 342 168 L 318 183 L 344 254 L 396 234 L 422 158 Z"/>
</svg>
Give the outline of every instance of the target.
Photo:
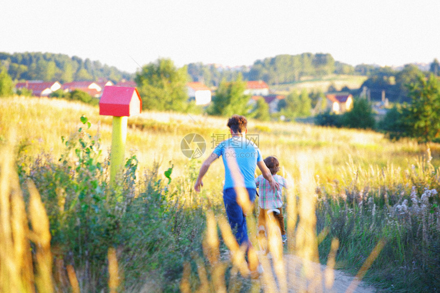
<svg viewBox="0 0 440 293">
<path fill-rule="evenodd" d="M 112 118 L 99 116 L 97 107 L 77 102 L 48 98 L 9 98 L 0 100 L 0 142 L 14 126 L 16 141 L 23 151 L 35 156 L 42 150 L 58 158 L 64 151 L 61 137 L 69 137 L 83 125 L 85 115 L 92 123 L 89 132 L 101 137 L 103 155 L 111 147 Z M 140 169 L 150 168 L 154 161 L 174 165 L 173 176 L 187 172 L 191 163 L 181 152 L 180 145 L 188 133 L 199 133 L 206 140 L 202 161 L 218 141 L 217 134 L 228 134 L 227 119 L 204 115 L 176 114 L 173 112 L 143 112 L 128 119 L 126 157 L 136 154 Z M 424 153 L 423 146 L 403 140 L 389 142 L 383 134 L 368 130 L 335 129 L 296 123 L 262 123 L 250 119 L 249 134 L 257 134 L 263 156 L 276 155 L 280 164 L 293 178 L 299 178 L 298 162 L 302 155 L 313 157 L 315 174 L 328 182 L 340 179 L 339 172 L 349 159 L 355 165 L 404 167 L 415 162 Z M 438 147 L 434 147 L 434 161 L 438 161 Z M 223 181 L 222 163 L 214 162 L 206 178 L 206 187 L 220 190 Z M 209 188 L 211 189 L 211 188 Z"/>
</svg>

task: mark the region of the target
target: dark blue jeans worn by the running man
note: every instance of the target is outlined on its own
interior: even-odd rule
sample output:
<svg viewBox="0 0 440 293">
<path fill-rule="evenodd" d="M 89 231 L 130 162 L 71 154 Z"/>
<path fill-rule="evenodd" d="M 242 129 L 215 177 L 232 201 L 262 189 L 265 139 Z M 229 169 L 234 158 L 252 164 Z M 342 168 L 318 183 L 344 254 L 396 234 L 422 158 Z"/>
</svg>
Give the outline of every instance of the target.
<svg viewBox="0 0 440 293">
<path fill-rule="evenodd" d="M 256 189 L 247 188 L 249 199 L 255 201 Z M 245 243 L 250 245 L 248 238 L 248 227 L 246 225 L 246 217 L 243 209 L 237 204 L 237 194 L 233 188 L 223 190 L 223 202 L 225 203 L 226 215 L 228 216 L 229 225 L 235 235 L 235 239 L 239 245 Z"/>
</svg>

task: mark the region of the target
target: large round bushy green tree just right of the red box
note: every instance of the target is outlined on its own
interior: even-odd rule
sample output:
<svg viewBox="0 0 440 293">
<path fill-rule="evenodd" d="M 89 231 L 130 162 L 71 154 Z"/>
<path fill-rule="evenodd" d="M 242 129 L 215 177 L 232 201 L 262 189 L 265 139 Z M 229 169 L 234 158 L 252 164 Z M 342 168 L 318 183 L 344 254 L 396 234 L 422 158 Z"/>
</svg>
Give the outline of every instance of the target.
<svg viewBox="0 0 440 293">
<path fill-rule="evenodd" d="M 185 111 L 188 80 L 186 66 L 178 69 L 171 59 L 161 58 L 143 66 L 135 78 L 142 108 Z"/>
</svg>

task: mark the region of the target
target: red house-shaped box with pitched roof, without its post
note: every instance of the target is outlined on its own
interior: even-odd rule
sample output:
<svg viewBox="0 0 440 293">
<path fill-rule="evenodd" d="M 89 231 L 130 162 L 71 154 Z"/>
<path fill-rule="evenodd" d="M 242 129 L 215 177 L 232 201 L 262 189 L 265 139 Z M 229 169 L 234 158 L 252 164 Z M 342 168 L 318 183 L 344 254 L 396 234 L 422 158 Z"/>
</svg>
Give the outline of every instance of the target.
<svg viewBox="0 0 440 293">
<path fill-rule="evenodd" d="M 142 100 L 136 87 L 113 86 L 104 87 L 99 100 L 99 115 L 133 116 L 142 109 Z"/>
</svg>

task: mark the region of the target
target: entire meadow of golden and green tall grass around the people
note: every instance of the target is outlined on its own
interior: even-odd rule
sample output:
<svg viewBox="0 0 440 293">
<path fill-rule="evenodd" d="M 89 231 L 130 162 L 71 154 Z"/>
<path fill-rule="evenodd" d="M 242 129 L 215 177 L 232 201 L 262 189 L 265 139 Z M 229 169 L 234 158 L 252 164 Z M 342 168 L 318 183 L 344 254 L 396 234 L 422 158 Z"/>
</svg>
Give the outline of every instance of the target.
<svg viewBox="0 0 440 293">
<path fill-rule="evenodd" d="M 214 134 L 227 134 L 224 118 L 157 112 L 129 118 L 127 164 L 115 191 L 108 186 L 106 152 L 111 119 L 96 107 L 33 98 L 3 99 L 0 106 L 0 144 L 9 148 L 2 151 L 2 162 L 9 163 L 0 169 L 2 286 L 24 282 L 29 292 L 37 284 L 51 288 L 48 282 L 60 292 L 331 290 L 333 268 L 344 268 L 390 291 L 438 290 L 438 145 L 389 142 L 372 131 L 250 121 L 248 133 L 258 134 L 264 156 L 278 156 L 292 186 L 284 208 L 288 247 L 282 258 L 276 251 L 272 260 L 260 257 L 265 273 L 257 282 L 223 216 L 222 164 L 212 165 L 205 189 L 195 194 L 201 162 L 180 150 L 192 132 L 205 138 L 210 152 Z M 12 126 L 16 132 L 9 136 Z M 35 188 L 28 188 L 30 180 Z M 19 186 L 26 188 L 20 192 Z M 22 198 L 13 209 L 5 208 L 11 190 L 23 194 L 10 197 Z M 44 209 L 32 198 L 41 198 Z M 33 209 L 47 217 L 28 226 L 26 207 L 29 220 Z M 258 247 L 254 216 L 250 233 Z M 14 241 L 24 244 L 15 248 Z M 17 262 L 21 271 L 8 271 L 5 263 L 15 259 L 23 260 Z M 328 264 L 326 271 L 318 261 Z M 14 272 L 21 272 L 21 281 L 8 277 Z"/>
</svg>

